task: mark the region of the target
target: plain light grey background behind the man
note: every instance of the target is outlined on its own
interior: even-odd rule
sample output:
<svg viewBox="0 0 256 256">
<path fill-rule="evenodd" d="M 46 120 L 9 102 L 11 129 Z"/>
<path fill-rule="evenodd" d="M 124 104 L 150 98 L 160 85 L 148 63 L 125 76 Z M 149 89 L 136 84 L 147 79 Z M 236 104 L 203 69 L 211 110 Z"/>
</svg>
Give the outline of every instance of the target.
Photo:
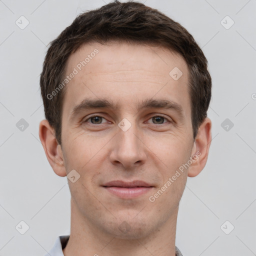
<svg viewBox="0 0 256 256">
<path fill-rule="evenodd" d="M 1 256 L 44 255 L 58 235 L 69 234 L 67 178 L 53 172 L 38 137 L 39 74 L 46 45 L 81 11 L 104 2 L 0 0 Z M 145 4 L 193 35 L 212 76 L 213 139 L 205 168 L 188 178 L 181 198 L 176 245 L 184 256 L 256 255 L 256 0 Z M 24 29 L 15 24 L 21 15 L 29 21 Z M 226 15 L 234 21 L 229 29 Z M 16 127 L 21 118 L 28 123 L 23 131 Z M 228 131 L 221 126 L 226 118 L 234 124 Z M 24 234 L 15 228 L 21 220 L 29 226 Z"/>
</svg>

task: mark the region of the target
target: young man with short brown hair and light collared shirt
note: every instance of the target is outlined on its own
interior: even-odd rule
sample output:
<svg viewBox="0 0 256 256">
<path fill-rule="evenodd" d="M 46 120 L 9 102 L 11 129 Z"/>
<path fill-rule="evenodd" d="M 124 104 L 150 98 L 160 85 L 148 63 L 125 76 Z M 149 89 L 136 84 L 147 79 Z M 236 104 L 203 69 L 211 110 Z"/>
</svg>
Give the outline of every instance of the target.
<svg viewBox="0 0 256 256">
<path fill-rule="evenodd" d="M 40 86 L 39 137 L 71 193 L 70 236 L 49 254 L 181 255 L 179 201 L 211 141 L 211 78 L 193 37 L 142 3 L 111 2 L 51 42 Z"/>
</svg>

